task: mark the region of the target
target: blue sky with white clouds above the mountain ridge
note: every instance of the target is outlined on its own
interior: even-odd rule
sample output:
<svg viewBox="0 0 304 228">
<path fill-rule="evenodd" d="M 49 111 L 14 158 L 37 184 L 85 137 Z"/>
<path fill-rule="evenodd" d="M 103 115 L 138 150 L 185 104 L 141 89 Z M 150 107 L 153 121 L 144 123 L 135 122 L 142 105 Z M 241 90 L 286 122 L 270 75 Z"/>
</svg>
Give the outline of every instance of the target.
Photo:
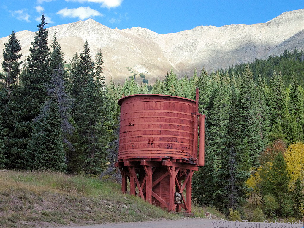
<svg viewBox="0 0 304 228">
<path fill-rule="evenodd" d="M 303 8 L 303 0 L 2 0 L 0 37 L 12 30 L 36 31 L 42 12 L 47 27 L 92 18 L 113 29 L 142 27 L 165 34 L 199 25 L 263 23 Z"/>
</svg>

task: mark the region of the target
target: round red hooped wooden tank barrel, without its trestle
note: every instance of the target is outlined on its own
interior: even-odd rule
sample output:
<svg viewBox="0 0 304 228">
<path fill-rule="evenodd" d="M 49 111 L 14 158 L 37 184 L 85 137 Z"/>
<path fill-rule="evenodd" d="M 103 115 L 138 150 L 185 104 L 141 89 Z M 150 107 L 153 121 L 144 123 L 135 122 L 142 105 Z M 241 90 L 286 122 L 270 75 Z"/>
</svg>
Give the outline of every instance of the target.
<svg viewBox="0 0 304 228">
<path fill-rule="evenodd" d="M 123 97 L 118 104 L 121 106 L 118 160 L 174 158 L 196 163 L 195 101 L 140 94 Z"/>
</svg>

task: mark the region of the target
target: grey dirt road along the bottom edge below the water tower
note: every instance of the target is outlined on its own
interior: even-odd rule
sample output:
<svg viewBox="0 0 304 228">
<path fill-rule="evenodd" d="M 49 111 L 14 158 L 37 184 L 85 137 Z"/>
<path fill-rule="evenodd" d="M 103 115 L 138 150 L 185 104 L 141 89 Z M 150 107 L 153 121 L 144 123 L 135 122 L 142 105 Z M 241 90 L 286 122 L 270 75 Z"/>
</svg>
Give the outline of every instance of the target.
<svg viewBox="0 0 304 228">
<path fill-rule="evenodd" d="M 298 221 L 299 222 L 299 221 Z M 283 225 L 283 226 L 282 226 Z M 260 223 L 250 222 L 231 222 L 216 219 L 206 218 L 181 218 L 178 220 L 160 219 L 155 221 L 145 221 L 136 223 L 107 223 L 100 225 L 89 226 L 58 226 L 57 228 L 268 228 L 268 227 L 303 227 L 303 223 L 299 224 L 296 221 L 291 223 L 291 226 L 285 223 L 267 223 L 261 221 Z"/>
</svg>

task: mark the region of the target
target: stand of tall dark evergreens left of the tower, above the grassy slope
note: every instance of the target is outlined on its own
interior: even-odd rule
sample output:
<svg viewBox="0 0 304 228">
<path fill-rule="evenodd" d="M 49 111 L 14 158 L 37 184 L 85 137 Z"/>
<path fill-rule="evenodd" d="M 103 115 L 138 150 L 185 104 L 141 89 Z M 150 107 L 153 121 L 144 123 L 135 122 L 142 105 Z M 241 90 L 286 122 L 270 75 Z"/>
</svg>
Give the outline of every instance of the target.
<svg viewBox="0 0 304 228">
<path fill-rule="evenodd" d="M 64 53 L 42 14 L 30 54 L 20 61 L 15 32 L 3 50 L 1 74 L 2 168 L 99 174 L 111 121 L 99 51 L 92 60 L 88 42 L 64 68 Z M 22 69 L 20 65 L 23 64 Z"/>
</svg>

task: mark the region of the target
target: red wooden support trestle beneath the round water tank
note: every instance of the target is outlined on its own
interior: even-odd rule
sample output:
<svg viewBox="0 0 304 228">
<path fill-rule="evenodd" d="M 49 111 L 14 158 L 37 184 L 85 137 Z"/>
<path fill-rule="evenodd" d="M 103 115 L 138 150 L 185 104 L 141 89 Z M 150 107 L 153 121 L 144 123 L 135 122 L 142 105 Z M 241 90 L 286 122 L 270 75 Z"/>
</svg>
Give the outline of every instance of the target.
<svg viewBox="0 0 304 228">
<path fill-rule="evenodd" d="M 143 200 L 168 209 L 191 213 L 192 175 L 198 170 L 195 164 L 183 164 L 169 160 L 124 160 L 116 163 L 122 174 L 122 192 L 127 192 L 130 181 L 130 194 L 139 195 Z M 175 194 L 181 200 L 175 201 Z"/>
</svg>

